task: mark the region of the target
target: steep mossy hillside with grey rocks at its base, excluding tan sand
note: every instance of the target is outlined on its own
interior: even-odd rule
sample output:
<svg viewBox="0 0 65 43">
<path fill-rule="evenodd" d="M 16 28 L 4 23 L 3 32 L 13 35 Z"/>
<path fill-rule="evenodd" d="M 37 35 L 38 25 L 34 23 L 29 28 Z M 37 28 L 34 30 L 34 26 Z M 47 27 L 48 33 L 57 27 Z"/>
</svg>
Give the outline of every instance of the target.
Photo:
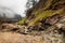
<svg viewBox="0 0 65 43">
<path fill-rule="evenodd" d="M 42 37 L 43 43 L 64 43 L 64 23 L 65 0 L 40 0 L 27 11 L 27 16 L 20 25 L 26 26 L 25 33 Z"/>
</svg>

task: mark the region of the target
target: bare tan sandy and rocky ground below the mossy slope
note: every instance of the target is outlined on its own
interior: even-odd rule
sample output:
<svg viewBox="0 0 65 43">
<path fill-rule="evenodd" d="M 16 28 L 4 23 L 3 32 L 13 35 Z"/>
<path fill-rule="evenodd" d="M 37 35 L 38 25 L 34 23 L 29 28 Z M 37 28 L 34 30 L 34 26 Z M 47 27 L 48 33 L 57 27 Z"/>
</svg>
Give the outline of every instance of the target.
<svg viewBox="0 0 65 43">
<path fill-rule="evenodd" d="M 48 26 L 48 25 L 46 25 Z M 26 33 L 25 26 L 2 24 L 0 27 L 0 42 L 3 43 L 64 43 L 65 15 L 51 26 L 29 28 Z M 42 28 L 42 29 L 41 29 Z M 14 39 L 12 39 L 12 37 Z M 31 38 L 31 39 L 30 39 Z"/>
</svg>

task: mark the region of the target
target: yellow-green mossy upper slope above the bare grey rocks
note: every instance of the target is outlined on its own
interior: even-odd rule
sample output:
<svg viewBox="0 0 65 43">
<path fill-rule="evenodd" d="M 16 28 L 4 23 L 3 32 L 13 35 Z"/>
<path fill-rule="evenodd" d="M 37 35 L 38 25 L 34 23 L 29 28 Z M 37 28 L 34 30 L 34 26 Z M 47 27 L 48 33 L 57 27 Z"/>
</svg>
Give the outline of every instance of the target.
<svg viewBox="0 0 65 43">
<path fill-rule="evenodd" d="M 39 0 L 36 5 L 27 10 L 26 18 L 18 24 L 27 24 L 27 27 L 36 26 L 47 17 L 63 14 L 65 14 L 65 0 Z"/>
</svg>

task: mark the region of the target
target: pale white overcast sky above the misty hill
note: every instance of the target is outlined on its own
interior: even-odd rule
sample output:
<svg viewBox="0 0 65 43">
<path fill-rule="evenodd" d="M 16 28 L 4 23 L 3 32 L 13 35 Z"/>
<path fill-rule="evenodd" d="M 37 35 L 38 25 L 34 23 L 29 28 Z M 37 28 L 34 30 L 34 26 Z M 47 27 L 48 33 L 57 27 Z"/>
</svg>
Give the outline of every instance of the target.
<svg viewBox="0 0 65 43">
<path fill-rule="evenodd" d="M 5 6 L 13 10 L 15 13 L 25 16 L 24 11 L 26 10 L 27 0 L 0 0 L 0 6 Z"/>
</svg>

